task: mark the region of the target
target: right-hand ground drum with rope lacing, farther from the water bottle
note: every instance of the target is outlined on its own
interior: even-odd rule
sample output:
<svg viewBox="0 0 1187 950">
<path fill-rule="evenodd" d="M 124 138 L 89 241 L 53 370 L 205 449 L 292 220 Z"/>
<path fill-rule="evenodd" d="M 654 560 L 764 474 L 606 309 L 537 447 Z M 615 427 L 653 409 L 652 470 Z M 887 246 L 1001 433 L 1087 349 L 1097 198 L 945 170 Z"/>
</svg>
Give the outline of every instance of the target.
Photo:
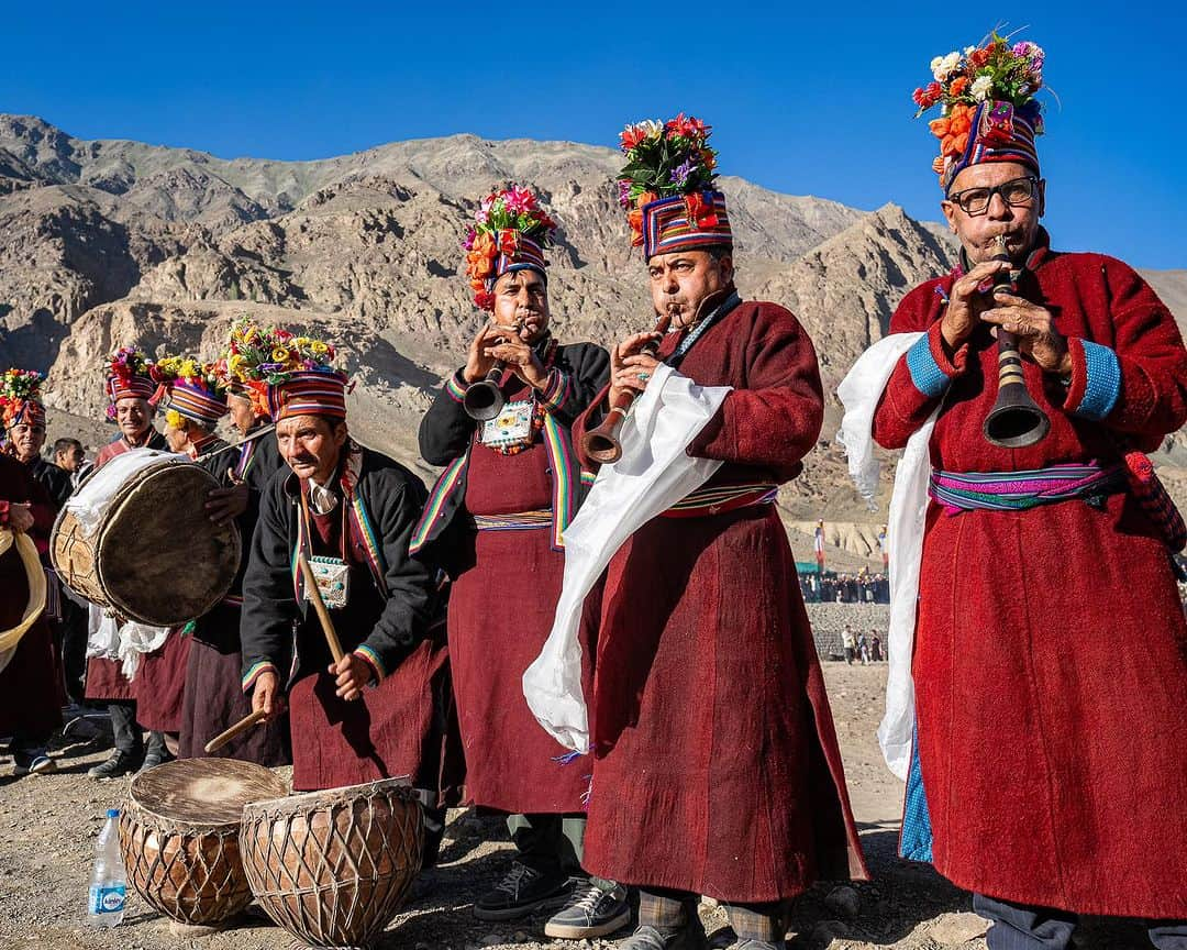
<svg viewBox="0 0 1187 950">
<path fill-rule="evenodd" d="M 255 802 L 243 867 L 260 906 L 310 946 L 369 946 L 420 869 L 425 823 L 405 779 Z"/>
</svg>

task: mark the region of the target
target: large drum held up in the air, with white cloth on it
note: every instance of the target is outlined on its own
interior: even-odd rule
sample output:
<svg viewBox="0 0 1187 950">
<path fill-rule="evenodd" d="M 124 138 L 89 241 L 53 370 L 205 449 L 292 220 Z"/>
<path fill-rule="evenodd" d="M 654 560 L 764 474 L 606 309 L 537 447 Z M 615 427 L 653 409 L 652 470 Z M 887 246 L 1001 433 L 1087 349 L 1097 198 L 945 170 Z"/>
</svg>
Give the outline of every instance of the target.
<svg viewBox="0 0 1187 950">
<path fill-rule="evenodd" d="M 53 566 L 91 603 L 151 627 L 202 616 L 239 569 L 239 530 L 205 502 L 218 481 L 180 456 L 133 449 L 71 495 L 50 538 Z"/>
</svg>

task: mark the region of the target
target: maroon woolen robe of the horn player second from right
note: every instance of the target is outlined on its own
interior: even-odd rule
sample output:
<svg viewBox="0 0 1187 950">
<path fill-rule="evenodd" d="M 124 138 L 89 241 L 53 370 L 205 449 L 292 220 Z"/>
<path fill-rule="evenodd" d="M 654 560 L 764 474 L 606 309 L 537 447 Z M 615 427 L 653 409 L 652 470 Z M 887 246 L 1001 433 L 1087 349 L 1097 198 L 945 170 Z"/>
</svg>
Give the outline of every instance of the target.
<svg viewBox="0 0 1187 950">
<path fill-rule="evenodd" d="M 709 486 L 799 474 L 823 399 L 812 342 L 792 314 L 741 304 L 679 369 L 734 387 L 688 449 L 724 461 Z M 578 419 L 578 444 L 591 422 Z M 635 532 L 607 571 L 595 670 L 588 870 L 741 902 L 864 875 L 774 506 L 660 517 Z"/>
</svg>

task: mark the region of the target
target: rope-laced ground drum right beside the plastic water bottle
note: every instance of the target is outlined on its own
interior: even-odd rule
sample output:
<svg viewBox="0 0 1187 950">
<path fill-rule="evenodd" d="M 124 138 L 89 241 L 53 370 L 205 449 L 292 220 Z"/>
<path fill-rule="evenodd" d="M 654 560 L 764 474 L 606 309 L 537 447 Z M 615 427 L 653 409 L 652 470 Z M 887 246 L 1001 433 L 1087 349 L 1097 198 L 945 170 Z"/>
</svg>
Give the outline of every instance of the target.
<svg viewBox="0 0 1187 950">
<path fill-rule="evenodd" d="M 128 882 L 182 924 L 214 925 L 252 902 L 239 830 L 243 805 L 288 792 L 262 766 L 184 759 L 132 780 L 120 815 Z"/>
</svg>

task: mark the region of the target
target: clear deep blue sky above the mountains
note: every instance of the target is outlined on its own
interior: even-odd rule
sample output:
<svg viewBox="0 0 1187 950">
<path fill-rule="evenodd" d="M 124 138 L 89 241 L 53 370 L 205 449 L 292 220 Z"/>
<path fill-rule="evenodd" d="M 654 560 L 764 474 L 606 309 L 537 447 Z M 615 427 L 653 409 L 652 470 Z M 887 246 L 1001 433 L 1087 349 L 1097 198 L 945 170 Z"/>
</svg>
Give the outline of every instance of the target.
<svg viewBox="0 0 1187 950">
<path fill-rule="evenodd" d="M 458 132 L 612 146 L 685 110 L 713 125 L 725 173 L 937 220 L 910 91 L 1005 23 L 1046 48 L 1059 96 L 1040 139 L 1053 243 L 1187 267 L 1187 5 L 796 6 L 11 5 L 0 112 L 292 159 Z"/>
</svg>

